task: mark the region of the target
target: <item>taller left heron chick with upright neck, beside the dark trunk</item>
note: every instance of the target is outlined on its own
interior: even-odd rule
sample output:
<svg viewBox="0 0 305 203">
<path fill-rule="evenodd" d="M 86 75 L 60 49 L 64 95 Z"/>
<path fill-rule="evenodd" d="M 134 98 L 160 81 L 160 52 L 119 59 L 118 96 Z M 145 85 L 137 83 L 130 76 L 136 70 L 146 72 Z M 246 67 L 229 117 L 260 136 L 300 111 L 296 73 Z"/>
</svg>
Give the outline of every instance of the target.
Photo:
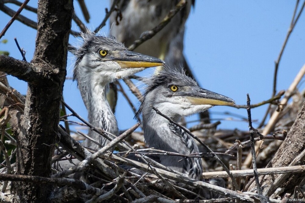
<svg viewBox="0 0 305 203">
<path fill-rule="evenodd" d="M 74 80 L 77 80 L 82 99 L 88 110 L 88 119 L 95 127 L 118 135 L 117 120 L 106 99 L 109 83 L 131 76 L 147 67 L 160 66 L 164 62 L 151 56 L 127 51 L 114 38 L 83 34 L 83 44 L 74 52 Z M 105 146 L 109 141 L 92 130 L 89 137 Z M 85 146 L 99 149 L 97 144 L 85 141 Z"/>
</svg>

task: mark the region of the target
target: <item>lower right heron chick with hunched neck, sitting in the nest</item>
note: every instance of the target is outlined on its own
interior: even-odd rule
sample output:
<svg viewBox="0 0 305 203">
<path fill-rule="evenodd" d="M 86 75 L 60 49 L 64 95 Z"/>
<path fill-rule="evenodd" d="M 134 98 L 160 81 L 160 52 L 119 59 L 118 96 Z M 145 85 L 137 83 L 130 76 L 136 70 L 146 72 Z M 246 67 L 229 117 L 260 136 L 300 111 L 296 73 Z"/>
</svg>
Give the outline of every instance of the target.
<svg viewBox="0 0 305 203">
<path fill-rule="evenodd" d="M 156 114 L 150 107 L 178 122 L 181 116 L 206 111 L 215 105 L 232 105 L 234 100 L 215 92 L 200 88 L 184 73 L 163 70 L 146 82 L 147 88 L 136 116 L 142 114 L 145 142 L 149 147 L 184 155 L 199 153 L 195 140 L 185 131 Z M 200 158 L 159 156 L 164 166 L 200 180 L 202 165 Z M 180 159 L 182 161 L 178 162 Z"/>
</svg>

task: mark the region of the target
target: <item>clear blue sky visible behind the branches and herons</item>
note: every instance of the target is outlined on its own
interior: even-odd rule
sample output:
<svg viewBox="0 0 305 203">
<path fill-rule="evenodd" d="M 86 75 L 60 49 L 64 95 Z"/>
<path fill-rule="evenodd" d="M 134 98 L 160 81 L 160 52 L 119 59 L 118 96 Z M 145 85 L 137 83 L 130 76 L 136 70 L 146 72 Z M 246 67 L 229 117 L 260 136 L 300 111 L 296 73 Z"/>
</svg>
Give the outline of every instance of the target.
<svg viewBox="0 0 305 203">
<path fill-rule="evenodd" d="M 105 7 L 109 2 L 86 1 L 91 13 L 90 23 L 86 23 L 94 30 L 105 16 Z M 37 1 L 30 1 L 29 5 L 37 7 Z M 74 2 L 75 12 L 83 20 L 77 2 Z M 195 76 L 202 87 L 233 98 L 236 104 L 246 104 L 246 94 L 249 93 L 251 103 L 255 104 L 269 99 L 272 93 L 274 61 L 277 59 L 287 30 L 290 25 L 295 1 L 201 1 L 197 0 L 195 9 L 190 13 L 186 23 L 185 55 Z M 18 7 L 9 5 L 17 10 Z M 23 10 L 22 15 L 36 21 L 36 16 Z M 0 28 L 3 29 L 10 17 L 0 12 Z M 84 20 L 83 20 L 84 22 Z M 73 30 L 78 30 L 75 23 Z M 109 24 L 101 30 L 107 34 Z M 26 51 L 26 58 L 31 60 L 34 53 L 36 30 L 15 21 L 2 39 L 7 44 L 0 44 L 0 50 L 10 52 L 10 56 L 22 59 L 15 45 L 17 38 L 21 47 Z M 70 43 L 76 45 L 77 39 L 70 35 Z M 74 58 L 68 55 L 68 75 L 72 76 Z M 305 16 L 302 15 L 292 32 L 287 47 L 283 53 L 278 70 L 277 91 L 289 87 L 294 77 L 305 62 Z M 154 69 L 148 69 L 138 74 L 149 76 Z M 14 77 L 8 77 L 9 83 L 20 93 L 26 94 L 27 84 Z M 124 82 L 121 81 L 121 84 Z M 132 102 L 138 107 L 139 102 L 130 95 Z M 302 91 L 304 85 L 299 86 Z M 66 80 L 64 84 L 64 99 L 83 118 L 87 112 L 81 100 L 76 83 Z M 261 120 L 267 105 L 252 109 L 252 119 Z M 239 118 L 230 120 L 232 116 L 221 115 L 231 112 L 247 117 L 246 109 L 235 109 L 227 106 L 217 106 L 210 110 L 212 118 L 221 120 L 220 129 L 247 130 L 248 123 L 240 122 Z M 116 116 L 121 130 L 134 125 L 133 112 L 121 94 L 117 104 Z M 72 118 L 71 118 L 72 119 Z M 198 119 L 190 116 L 187 120 Z M 77 120 L 77 119 L 74 119 Z M 188 127 L 195 123 L 188 124 Z M 257 125 L 254 123 L 254 127 Z"/>
</svg>

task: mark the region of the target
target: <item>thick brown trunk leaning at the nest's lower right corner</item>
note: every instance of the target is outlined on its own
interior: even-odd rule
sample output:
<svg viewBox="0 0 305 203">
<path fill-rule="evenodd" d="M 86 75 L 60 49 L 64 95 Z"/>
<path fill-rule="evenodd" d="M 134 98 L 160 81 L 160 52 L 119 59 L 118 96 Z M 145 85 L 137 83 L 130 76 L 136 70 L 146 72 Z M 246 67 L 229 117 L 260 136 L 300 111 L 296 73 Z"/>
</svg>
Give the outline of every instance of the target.
<svg viewBox="0 0 305 203">
<path fill-rule="evenodd" d="M 287 137 L 266 168 L 305 164 L 304 143 L 305 103 Z M 283 189 L 281 193 L 293 193 L 294 187 L 299 185 L 304 178 L 305 174 L 299 173 L 260 176 L 260 185 L 263 188 L 263 194 L 270 197 L 279 187 Z M 252 183 L 248 191 L 251 191 L 254 188 L 255 183 Z"/>
</svg>

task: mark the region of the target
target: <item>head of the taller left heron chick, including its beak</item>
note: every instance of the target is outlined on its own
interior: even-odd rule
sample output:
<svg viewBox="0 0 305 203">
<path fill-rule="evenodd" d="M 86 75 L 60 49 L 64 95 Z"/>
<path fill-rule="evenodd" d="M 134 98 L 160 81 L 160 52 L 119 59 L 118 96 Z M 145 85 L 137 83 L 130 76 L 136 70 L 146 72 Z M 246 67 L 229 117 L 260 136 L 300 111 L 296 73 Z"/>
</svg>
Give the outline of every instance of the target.
<svg viewBox="0 0 305 203">
<path fill-rule="evenodd" d="M 94 33 L 82 37 L 82 46 L 74 52 L 77 58 L 74 79 L 91 76 L 97 82 L 110 83 L 145 68 L 164 64 L 160 59 L 128 51 L 114 37 L 96 36 Z"/>
</svg>

